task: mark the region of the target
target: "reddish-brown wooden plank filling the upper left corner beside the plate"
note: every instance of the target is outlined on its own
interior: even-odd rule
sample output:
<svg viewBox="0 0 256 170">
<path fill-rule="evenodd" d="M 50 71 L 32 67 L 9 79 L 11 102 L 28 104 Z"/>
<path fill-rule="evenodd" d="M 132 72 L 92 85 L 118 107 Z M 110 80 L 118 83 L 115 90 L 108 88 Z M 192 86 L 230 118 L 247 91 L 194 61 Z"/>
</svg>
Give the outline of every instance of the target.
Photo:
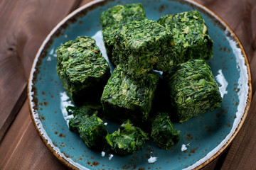
<svg viewBox="0 0 256 170">
<path fill-rule="evenodd" d="M 26 99 L 27 79 L 38 48 L 79 4 L 76 0 L 0 1 L 0 141 Z"/>
</svg>

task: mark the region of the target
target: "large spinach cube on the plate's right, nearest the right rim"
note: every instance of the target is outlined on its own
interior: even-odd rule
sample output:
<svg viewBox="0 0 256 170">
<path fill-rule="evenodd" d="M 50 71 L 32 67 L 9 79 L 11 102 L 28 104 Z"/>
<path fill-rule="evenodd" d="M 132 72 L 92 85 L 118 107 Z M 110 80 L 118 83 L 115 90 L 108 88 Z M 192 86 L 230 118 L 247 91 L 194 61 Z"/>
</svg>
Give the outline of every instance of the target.
<svg viewBox="0 0 256 170">
<path fill-rule="evenodd" d="M 218 84 L 205 60 L 191 59 L 178 64 L 164 79 L 169 81 L 172 104 L 180 123 L 220 107 Z"/>
</svg>

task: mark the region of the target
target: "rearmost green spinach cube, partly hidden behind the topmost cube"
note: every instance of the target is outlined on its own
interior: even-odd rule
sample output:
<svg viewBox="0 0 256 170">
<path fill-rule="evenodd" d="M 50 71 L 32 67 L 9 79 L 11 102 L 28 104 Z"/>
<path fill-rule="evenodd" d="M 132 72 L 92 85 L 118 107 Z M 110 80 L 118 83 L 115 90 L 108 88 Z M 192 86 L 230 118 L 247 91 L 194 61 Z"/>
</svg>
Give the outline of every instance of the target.
<svg viewBox="0 0 256 170">
<path fill-rule="evenodd" d="M 144 18 L 146 18 L 146 14 L 140 3 L 117 5 L 100 13 L 103 41 L 110 61 L 112 61 L 114 30 L 123 23 L 140 21 Z"/>
</svg>

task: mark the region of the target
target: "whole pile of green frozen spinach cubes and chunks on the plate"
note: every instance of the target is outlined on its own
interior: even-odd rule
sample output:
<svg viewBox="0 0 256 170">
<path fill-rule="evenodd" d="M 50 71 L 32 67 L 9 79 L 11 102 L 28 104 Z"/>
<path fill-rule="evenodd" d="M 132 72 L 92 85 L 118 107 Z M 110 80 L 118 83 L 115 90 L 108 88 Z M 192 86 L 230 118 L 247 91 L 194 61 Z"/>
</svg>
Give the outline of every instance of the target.
<svg viewBox="0 0 256 170">
<path fill-rule="evenodd" d="M 171 114 L 176 113 L 174 121 L 183 123 L 220 107 L 218 84 L 205 62 L 213 55 L 213 40 L 198 11 L 152 21 L 146 18 L 142 4 L 124 4 L 103 11 L 100 23 L 107 56 L 116 66 L 109 79 L 109 67 L 91 38 L 66 42 L 57 50 L 57 72 L 70 98 L 79 103 L 87 91 L 97 89 L 101 93 L 97 98 L 102 104 L 102 115 L 122 123 L 109 134 L 97 111 L 88 114 L 82 107 L 75 109 L 70 130 L 80 133 L 87 147 L 94 149 L 105 138 L 112 152 L 132 154 L 149 140 L 148 133 L 142 130 L 146 129 L 142 125 L 146 125 L 151 127 L 149 133 L 154 142 L 170 149 L 180 139 Z M 92 70 L 98 76 L 87 78 Z M 163 72 L 161 78 L 156 70 Z M 175 111 L 151 109 L 161 79 L 168 86 L 169 103 Z M 94 132 L 101 135 L 92 135 Z"/>
</svg>

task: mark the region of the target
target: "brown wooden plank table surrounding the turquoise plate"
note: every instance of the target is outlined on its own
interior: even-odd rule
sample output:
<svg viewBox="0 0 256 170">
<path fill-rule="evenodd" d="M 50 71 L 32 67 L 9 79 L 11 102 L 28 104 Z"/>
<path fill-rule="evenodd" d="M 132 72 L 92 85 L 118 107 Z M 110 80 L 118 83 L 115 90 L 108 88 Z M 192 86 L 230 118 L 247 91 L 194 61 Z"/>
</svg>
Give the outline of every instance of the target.
<svg viewBox="0 0 256 170">
<path fill-rule="evenodd" d="M 41 141 L 26 86 L 50 30 L 90 0 L 0 1 L 0 169 L 67 169 Z M 256 1 L 196 0 L 223 18 L 242 42 L 252 72 L 250 111 L 232 145 L 204 169 L 256 169 Z"/>
</svg>

